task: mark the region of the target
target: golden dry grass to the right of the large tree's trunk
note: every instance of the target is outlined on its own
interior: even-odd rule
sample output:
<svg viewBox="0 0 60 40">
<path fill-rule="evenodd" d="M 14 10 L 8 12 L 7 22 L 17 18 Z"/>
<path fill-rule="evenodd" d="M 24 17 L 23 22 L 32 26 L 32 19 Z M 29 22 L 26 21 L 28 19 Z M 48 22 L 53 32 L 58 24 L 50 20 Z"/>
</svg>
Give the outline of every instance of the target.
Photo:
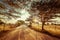
<svg viewBox="0 0 60 40">
<path fill-rule="evenodd" d="M 44 29 L 52 35 L 60 37 L 60 26 L 58 25 L 45 25 Z"/>
</svg>

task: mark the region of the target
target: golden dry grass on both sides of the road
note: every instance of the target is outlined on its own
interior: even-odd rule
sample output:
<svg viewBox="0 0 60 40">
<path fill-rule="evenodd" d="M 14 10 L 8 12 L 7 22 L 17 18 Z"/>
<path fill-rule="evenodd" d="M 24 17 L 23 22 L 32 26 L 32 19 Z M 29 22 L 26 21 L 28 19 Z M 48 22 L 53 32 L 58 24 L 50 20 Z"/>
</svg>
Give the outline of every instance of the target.
<svg viewBox="0 0 60 40">
<path fill-rule="evenodd" d="M 6 25 L 5 28 L 4 29 L 3 28 L 4 26 L 0 25 L 0 32 L 3 30 L 8 31 L 8 30 L 14 29 L 14 28 L 10 28 L 9 25 Z M 31 28 L 37 31 L 42 31 L 42 26 L 39 24 L 32 23 Z M 60 26 L 59 25 L 44 25 L 44 30 L 50 33 L 51 35 L 60 37 Z"/>
</svg>

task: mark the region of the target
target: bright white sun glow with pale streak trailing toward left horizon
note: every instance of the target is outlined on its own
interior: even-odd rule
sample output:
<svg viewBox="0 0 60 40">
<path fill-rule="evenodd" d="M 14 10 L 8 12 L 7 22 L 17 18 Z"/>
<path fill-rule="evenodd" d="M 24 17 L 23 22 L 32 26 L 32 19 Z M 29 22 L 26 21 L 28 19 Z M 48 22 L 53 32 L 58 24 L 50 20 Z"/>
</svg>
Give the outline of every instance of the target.
<svg viewBox="0 0 60 40">
<path fill-rule="evenodd" d="M 16 23 L 17 20 L 25 21 L 30 16 L 29 12 L 26 9 L 22 9 L 19 12 L 21 13 L 20 18 L 9 20 L 9 21 L 7 21 L 7 23 Z"/>
</svg>

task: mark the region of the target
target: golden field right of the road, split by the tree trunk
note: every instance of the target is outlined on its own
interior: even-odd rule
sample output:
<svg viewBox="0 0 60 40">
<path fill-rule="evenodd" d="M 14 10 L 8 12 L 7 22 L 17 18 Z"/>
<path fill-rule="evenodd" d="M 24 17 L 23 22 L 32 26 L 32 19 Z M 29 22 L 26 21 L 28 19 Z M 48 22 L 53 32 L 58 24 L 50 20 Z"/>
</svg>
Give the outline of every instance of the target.
<svg viewBox="0 0 60 40">
<path fill-rule="evenodd" d="M 41 25 L 32 23 L 32 27 L 34 30 L 42 31 Z M 53 36 L 60 37 L 60 26 L 59 25 L 44 25 L 44 30 Z"/>
</svg>

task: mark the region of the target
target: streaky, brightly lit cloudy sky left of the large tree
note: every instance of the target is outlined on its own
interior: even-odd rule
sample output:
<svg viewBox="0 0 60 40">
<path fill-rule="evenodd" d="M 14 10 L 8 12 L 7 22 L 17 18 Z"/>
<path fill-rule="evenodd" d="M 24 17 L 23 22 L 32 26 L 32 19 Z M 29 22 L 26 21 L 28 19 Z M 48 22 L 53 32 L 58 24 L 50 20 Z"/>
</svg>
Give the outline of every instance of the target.
<svg viewBox="0 0 60 40">
<path fill-rule="evenodd" d="M 6 8 L 0 10 L 1 15 L 3 15 L 2 17 L 0 17 L 2 18 L 0 20 L 3 20 L 5 23 L 16 23 L 17 20 L 25 21 L 27 18 L 29 18 L 30 14 L 29 11 L 27 10 L 30 9 L 31 2 L 26 1 L 25 4 L 19 1 L 11 1 L 11 2 L 13 2 L 13 4 L 10 5 L 9 1 L 8 2 L 0 1 L 0 3 L 2 3 Z M 17 8 L 15 4 L 20 7 Z"/>
</svg>

